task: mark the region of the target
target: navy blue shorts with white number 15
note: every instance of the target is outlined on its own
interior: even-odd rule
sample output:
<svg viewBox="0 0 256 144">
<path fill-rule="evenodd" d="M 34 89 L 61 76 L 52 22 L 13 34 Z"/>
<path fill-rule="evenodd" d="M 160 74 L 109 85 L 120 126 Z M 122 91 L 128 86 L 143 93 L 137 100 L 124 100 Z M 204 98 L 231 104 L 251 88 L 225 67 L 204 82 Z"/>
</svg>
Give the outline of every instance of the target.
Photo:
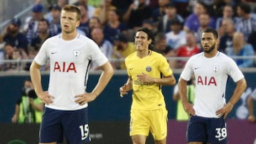
<svg viewBox="0 0 256 144">
<path fill-rule="evenodd" d="M 90 141 L 87 108 L 75 111 L 61 111 L 45 108 L 40 126 L 40 143 L 87 143 Z"/>
</svg>

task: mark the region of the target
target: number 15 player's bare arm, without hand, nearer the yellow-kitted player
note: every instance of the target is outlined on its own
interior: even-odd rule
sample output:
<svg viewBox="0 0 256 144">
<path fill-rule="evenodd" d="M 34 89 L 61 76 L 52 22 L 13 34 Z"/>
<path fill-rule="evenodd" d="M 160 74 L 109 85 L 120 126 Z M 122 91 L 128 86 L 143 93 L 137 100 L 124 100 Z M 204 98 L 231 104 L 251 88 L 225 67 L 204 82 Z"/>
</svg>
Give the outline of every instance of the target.
<svg viewBox="0 0 256 144">
<path fill-rule="evenodd" d="M 100 79 L 98 80 L 95 89 L 92 90 L 92 94 L 95 98 L 103 91 L 103 89 L 105 89 L 114 74 L 114 70 L 110 62 L 106 62 L 104 65 L 100 66 L 100 69 L 102 70 L 102 74 L 100 75 Z"/>
</svg>

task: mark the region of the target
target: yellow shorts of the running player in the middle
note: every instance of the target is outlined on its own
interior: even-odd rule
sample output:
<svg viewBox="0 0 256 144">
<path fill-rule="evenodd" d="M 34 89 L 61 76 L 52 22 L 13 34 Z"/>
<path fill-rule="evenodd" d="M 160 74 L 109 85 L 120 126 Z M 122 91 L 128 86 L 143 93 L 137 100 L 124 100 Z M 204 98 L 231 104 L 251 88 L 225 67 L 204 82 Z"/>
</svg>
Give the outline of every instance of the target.
<svg viewBox="0 0 256 144">
<path fill-rule="evenodd" d="M 149 131 L 154 140 L 162 140 L 167 136 L 167 113 L 166 109 L 156 110 L 132 110 L 130 121 L 130 136 L 149 135 Z"/>
</svg>

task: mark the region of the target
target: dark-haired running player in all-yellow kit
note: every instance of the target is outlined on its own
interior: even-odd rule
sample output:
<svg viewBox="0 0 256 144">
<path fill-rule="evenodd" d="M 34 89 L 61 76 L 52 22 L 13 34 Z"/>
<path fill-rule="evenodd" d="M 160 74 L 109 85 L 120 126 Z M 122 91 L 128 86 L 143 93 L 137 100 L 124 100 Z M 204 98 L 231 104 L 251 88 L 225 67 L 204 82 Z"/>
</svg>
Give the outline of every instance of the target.
<svg viewBox="0 0 256 144">
<path fill-rule="evenodd" d="M 148 28 L 137 30 L 134 41 L 137 51 L 125 59 L 129 78 L 119 88 L 120 96 L 133 90 L 129 135 L 136 144 L 144 144 L 149 131 L 156 144 L 166 144 L 167 110 L 161 85 L 176 83 L 166 58 L 150 50 L 153 40 Z"/>
</svg>

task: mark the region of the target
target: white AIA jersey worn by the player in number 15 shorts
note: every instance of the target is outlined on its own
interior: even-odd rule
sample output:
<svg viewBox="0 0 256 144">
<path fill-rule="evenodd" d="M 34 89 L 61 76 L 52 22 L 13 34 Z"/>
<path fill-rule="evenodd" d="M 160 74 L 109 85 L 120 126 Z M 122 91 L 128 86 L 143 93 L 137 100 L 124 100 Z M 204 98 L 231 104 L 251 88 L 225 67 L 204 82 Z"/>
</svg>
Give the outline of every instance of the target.
<svg viewBox="0 0 256 144">
<path fill-rule="evenodd" d="M 51 109 L 77 110 L 87 107 L 75 103 L 75 96 L 85 94 L 90 62 L 101 66 L 107 57 L 90 38 L 78 34 L 73 40 L 63 40 L 61 34 L 48 38 L 34 59 L 39 65 L 50 60 L 48 92 L 54 96 Z"/>
</svg>

